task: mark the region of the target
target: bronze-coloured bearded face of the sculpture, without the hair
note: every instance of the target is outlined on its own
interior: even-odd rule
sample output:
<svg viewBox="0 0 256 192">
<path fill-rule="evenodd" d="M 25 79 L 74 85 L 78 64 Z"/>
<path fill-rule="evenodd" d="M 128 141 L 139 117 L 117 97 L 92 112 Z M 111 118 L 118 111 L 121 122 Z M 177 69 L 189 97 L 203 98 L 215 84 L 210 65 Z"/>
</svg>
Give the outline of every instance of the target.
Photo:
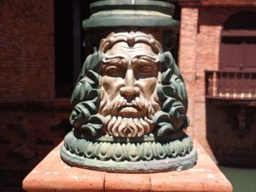
<svg viewBox="0 0 256 192">
<path fill-rule="evenodd" d="M 148 134 L 154 128 L 154 113 L 160 110 L 157 53 L 144 42 L 116 42 L 106 50 L 99 73 L 99 114 L 106 118 L 105 132 L 116 137 Z"/>
</svg>

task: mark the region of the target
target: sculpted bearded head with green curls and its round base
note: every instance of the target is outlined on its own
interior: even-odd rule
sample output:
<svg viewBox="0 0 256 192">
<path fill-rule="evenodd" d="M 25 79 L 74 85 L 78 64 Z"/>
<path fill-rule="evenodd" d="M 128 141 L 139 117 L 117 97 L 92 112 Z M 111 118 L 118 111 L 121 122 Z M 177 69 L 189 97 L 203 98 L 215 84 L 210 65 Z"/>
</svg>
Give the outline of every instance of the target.
<svg viewBox="0 0 256 192">
<path fill-rule="evenodd" d="M 111 32 L 86 58 L 72 93 L 74 129 L 61 147 L 73 166 L 111 172 L 187 169 L 187 91 L 170 52 L 147 31 Z"/>
</svg>

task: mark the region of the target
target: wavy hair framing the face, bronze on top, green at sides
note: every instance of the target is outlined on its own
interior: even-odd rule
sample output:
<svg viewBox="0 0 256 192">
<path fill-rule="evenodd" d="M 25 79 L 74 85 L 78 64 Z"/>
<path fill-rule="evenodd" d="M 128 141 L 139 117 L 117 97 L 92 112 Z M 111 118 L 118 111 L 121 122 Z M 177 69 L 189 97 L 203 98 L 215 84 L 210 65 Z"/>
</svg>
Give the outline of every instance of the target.
<svg viewBox="0 0 256 192">
<path fill-rule="evenodd" d="M 94 53 L 86 58 L 78 77 L 77 85 L 72 93 L 72 113 L 70 123 L 80 130 L 80 133 L 90 134 L 92 137 L 102 134 L 105 117 L 97 114 L 99 110 L 99 68 L 102 64 L 103 54 L 116 42 L 127 42 L 132 46 L 136 42 L 150 45 L 154 53 L 158 54 L 161 64 L 162 85 L 157 88 L 161 110 L 155 113 L 153 122 L 157 124 L 154 129 L 158 137 L 167 132 L 186 128 L 189 120 L 187 113 L 187 91 L 178 66 L 170 52 L 162 53 L 162 46 L 151 34 L 142 32 L 111 33 L 102 39 L 99 51 L 94 48 Z"/>
</svg>

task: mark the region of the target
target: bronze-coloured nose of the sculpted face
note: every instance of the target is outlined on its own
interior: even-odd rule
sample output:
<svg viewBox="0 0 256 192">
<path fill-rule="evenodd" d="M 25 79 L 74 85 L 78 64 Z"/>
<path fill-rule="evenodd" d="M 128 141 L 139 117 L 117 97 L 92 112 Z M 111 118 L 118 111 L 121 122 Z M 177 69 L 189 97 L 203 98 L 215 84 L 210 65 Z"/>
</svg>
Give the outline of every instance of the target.
<svg viewBox="0 0 256 192">
<path fill-rule="evenodd" d="M 133 74 L 132 69 L 128 69 L 124 77 L 124 87 L 120 88 L 121 96 L 124 96 L 128 102 L 135 99 L 140 93 L 140 88 L 135 87 L 135 81 L 135 75 Z"/>
</svg>

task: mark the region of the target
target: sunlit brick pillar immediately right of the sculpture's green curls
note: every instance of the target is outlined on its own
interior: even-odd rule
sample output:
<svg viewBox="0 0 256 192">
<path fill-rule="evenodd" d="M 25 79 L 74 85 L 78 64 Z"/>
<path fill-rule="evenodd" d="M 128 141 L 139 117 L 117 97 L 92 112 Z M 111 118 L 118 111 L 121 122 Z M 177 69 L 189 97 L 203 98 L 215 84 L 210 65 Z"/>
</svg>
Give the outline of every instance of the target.
<svg viewBox="0 0 256 192">
<path fill-rule="evenodd" d="M 198 7 L 184 7 L 181 9 L 181 34 L 178 66 L 187 85 L 189 97 L 189 109 L 187 116 L 190 126 L 187 133 L 193 137 L 194 128 L 194 105 L 195 105 L 195 64 L 197 47 L 197 20 Z"/>
</svg>

